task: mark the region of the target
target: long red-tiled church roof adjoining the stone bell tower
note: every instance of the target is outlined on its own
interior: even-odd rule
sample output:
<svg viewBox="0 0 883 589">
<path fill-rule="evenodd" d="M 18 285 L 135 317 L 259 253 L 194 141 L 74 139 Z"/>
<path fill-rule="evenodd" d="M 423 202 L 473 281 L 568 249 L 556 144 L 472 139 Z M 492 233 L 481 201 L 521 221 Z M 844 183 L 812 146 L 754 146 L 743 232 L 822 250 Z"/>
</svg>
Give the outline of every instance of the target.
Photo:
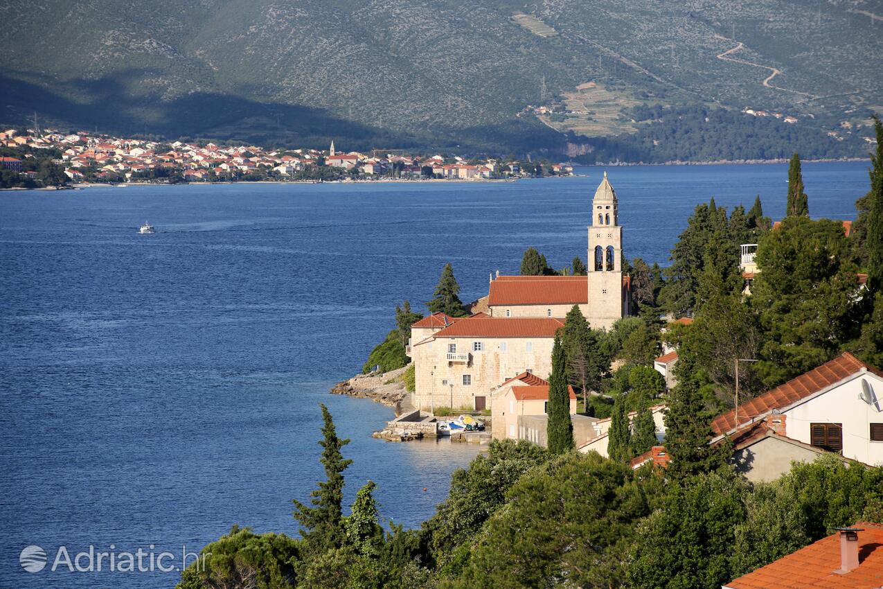
<svg viewBox="0 0 883 589">
<path fill-rule="evenodd" d="M 494 280 L 487 304 L 585 305 L 589 283 L 585 276 L 521 276 L 526 280 Z"/>
</svg>

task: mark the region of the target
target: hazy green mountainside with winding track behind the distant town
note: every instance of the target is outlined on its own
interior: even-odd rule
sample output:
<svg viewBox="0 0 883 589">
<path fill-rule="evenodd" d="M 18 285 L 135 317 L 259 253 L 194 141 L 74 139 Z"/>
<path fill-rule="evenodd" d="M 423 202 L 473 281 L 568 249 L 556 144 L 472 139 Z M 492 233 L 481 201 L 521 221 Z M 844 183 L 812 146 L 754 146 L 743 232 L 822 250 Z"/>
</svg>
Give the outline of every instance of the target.
<svg viewBox="0 0 883 589">
<path fill-rule="evenodd" d="M 358 148 L 588 159 L 600 150 L 606 160 L 655 161 L 641 149 L 659 147 L 660 132 L 631 120 L 636 105 L 679 112 L 667 122 L 675 129 L 695 125 L 706 108 L 727 109 L 752 135 L 781 135 L 769 123 L 788 125 L 742 114 L 751 108 L 796 117 L 808 157 L 839 157 L 864 155 L 864 121 L 883 95 L 883 9 L 870 0 L 0 5 L 0 120 L 8 123 L 36 109 L 57 124 L 171 138 L 324 145 L 336 137 Z M 603 105 L 585 93 L 590 83 L 603 88 Z M 558 114 L 528 108 L 541 105 Z M 698 157 L 680 135 L 662 137 L 662 159 Z M 725 153 L 728 143 L 702 157 L 738 159 Z M 742 157 L 770 157 L 766 147 L 748 151 Z"/>
</svg>

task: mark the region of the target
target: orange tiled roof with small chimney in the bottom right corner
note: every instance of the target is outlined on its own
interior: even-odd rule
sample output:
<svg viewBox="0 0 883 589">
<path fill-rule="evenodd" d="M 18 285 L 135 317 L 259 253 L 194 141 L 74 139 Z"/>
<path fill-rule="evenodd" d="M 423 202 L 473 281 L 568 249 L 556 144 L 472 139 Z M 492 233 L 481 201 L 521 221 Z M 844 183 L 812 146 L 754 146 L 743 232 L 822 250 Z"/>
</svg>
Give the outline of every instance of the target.
<svg viewBox="0 0 883 589">
<path fill-rule="evenodd" d="M 840 533 L 730 581 L 728 589 L 875 589 L 883 586 L 883 525 L 856 522 L 858 567 L 840 575 Z"/>
</svg>

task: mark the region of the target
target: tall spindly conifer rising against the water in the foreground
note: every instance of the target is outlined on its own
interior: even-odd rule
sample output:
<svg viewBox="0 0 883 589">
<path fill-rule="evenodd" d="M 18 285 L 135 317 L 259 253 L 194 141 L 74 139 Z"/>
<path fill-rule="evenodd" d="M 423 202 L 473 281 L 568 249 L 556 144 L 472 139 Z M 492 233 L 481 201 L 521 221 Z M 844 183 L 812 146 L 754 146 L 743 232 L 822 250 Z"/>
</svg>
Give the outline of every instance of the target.
<svg viewBox="0 0 883 589">
<path fill-rule="evenodd" d="M 325 467 L 327 480 L 320 482 L 319 488 L 310 494 L 313 507 L 297 499 L 292 500 L 294 518 L 304 527 L 300 533 L 308 549 L 315 553 L 340 547 L 343 543 L 343 471 L 352 463 L 352 460 L 344 459 L 341 453 L 343 446 L 350 441 L 337 437 L 328 407 L 324 404 L 320 404 L 320 407 L 324 422 L 321 430 L 323 440 L 319 442 L 322 447 L 320 462 Z"/>
</svg>

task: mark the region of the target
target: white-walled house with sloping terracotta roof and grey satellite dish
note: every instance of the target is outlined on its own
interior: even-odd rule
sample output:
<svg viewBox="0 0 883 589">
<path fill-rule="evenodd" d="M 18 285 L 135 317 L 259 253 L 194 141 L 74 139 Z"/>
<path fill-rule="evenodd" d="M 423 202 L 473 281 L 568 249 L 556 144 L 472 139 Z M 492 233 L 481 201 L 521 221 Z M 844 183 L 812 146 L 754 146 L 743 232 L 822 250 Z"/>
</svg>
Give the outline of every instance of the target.
<svg viewBox="0 0 883 589">
<path fill-rule="evenodd" d="M 713 442 L 742 434 L 759 421 L 775 423 L 776 434 L 804 445 L 883 464 L 883 371 L 844 352 L 713 419 Z M 781 454 L 783 447 L 776 447 Z M 805 454 L 795 451 L 783 460 L 790 464 L 792 456 Z M 762 456 L 758 447 L 744 460 L 772 458 Z"/>
</svg>

